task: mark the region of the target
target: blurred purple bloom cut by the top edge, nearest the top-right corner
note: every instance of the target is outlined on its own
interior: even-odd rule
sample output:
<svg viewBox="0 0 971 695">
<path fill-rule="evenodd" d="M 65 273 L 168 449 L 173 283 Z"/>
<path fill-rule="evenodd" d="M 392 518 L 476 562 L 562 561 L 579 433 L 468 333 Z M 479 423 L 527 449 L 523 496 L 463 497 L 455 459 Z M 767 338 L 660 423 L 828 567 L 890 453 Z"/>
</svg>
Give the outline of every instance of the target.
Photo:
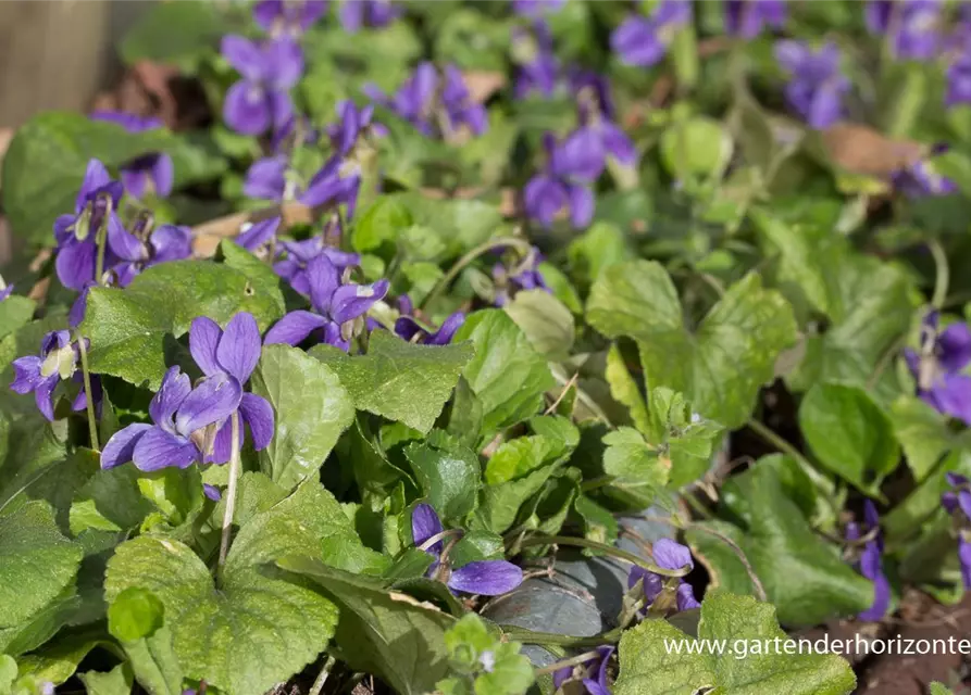
<svg viewBox="0 0 971 695">
<path fill-rule="evenodd" d="M 942 0 L 868 0 L 867 28 L 888 35 L 896 58 L 925 61 L 942 46 Z"/>
</svg>

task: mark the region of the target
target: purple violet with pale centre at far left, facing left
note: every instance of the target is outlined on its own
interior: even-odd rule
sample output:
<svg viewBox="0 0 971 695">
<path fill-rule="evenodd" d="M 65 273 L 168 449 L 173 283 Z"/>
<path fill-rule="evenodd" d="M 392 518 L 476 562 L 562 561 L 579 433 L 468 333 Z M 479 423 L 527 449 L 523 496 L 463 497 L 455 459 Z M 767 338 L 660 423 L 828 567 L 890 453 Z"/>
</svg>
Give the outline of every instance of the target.
<svg viewBox="0 0 971 695">
<path fill-rule="evenodd" d="M 17 357 L 13 361 L 14 380 L 10 384 L 10 389 L 21 395 L 33 392 L 37 409 L 48 420 L 53 421 L 54 388 L 61 380 L 74 378 L 75 381 L 80 381 L 76 378 L 80 376 L 77 372 L 77 359 L 78 349 L 71 341 L 71 333 L 66 330 L 51 331 L 41 340 L 39 355 Z M 100 408 L 101 381 L 97 378 L 91 380 L 91 392 L 96 406 Z M 71 404 L 71 409 L 76 413 L 86 407 L 87 396 L 84 387 L 82 387 L 80 393 Z"/>
</svg>

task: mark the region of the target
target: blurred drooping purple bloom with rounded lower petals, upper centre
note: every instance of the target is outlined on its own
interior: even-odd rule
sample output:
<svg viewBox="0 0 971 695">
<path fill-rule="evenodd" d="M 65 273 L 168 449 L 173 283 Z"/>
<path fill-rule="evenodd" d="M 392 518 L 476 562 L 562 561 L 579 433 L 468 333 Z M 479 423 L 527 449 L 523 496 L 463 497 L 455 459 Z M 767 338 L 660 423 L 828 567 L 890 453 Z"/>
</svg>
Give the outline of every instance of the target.
<svg viewBox="0 0 971 695">
<path fill-rule="evenodd" d="M 523 205 L 530 218 L 544 227 L 552 225 L 563 210 L 570 211 L 574 227 L 586 227 L 594 217 L 594 192 L 586 178 L 593 168 L 586 159 L 587 152 L 565 143 L 557 146 L 551 134 L 544 137 L 547 152 L 546 169 L 534 176 L 523 190 Z"/>
</svg>

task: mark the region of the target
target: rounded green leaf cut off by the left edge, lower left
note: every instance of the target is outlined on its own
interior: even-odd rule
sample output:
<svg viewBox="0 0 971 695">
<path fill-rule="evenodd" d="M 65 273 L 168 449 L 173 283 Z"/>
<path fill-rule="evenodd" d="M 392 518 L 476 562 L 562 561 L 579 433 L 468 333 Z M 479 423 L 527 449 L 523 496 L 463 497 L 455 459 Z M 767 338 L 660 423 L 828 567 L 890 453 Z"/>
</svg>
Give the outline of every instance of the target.
<svg viewBox="0 0 971 695">
<path fill-rule="evenodd" d="M 82 548 L 58 530 L 45 502 L 0 516 L 0 628 L 23 623 L 74 581 Z"/>
</svg>

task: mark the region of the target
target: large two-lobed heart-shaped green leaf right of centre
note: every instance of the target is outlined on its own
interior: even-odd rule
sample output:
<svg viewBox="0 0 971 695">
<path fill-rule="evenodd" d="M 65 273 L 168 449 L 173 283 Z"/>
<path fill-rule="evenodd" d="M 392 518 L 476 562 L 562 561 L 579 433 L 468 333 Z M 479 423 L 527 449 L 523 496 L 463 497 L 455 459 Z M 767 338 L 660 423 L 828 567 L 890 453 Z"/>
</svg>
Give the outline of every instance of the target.
<svg viewBox="0 0 971 695">
<path fill-rule="evenodd" d="M 727 429 L 748 420 L 759 388 L 774 377 L 796 339 L 792 307 L 750 274 L 729 288 L 696 333 L 688 332 L 667 270 L 655 262 L 615 265 L 587 302 L 587 320 L 609 338 L 630 336 L 640 349 L 647 384 L 679 391 Z"/>
</svg>

